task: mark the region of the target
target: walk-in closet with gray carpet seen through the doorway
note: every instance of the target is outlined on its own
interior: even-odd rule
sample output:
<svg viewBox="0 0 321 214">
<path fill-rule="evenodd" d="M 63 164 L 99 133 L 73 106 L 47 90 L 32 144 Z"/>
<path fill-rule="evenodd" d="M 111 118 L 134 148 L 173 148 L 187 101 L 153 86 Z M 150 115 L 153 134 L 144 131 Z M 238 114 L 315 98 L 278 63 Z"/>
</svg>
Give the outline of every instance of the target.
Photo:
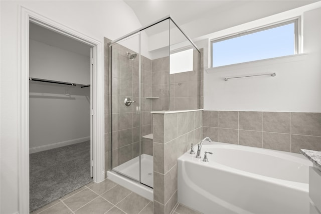
<svg viewBox="0 0 321 214">
<path fill-rule="evenodd" d="M 30 23 L 30 211 L 92 182 L 91 47 Z"/>
</svg>

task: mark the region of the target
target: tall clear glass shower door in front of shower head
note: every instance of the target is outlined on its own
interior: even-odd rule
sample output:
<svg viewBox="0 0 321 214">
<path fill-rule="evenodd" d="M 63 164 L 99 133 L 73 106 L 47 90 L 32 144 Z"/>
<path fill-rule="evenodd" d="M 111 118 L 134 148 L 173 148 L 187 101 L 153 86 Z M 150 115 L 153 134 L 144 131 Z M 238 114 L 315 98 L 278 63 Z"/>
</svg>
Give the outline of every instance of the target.
<svg viewBox="0 0 321 214">
<path fill-rule="evenodd" d="M 111 46 L 112 169 L 139 181 L 139 34 Z"/>
</svg>

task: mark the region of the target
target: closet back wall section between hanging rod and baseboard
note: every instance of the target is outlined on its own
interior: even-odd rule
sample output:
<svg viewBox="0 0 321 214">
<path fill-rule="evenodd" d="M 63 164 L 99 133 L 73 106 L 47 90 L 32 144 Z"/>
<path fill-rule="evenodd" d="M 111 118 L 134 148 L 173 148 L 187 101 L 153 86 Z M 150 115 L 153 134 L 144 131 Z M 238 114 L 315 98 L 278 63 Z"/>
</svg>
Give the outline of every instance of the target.
<svg viewBox="0 0 321 214">
<path fill-rule="evenodd" d="M 80 138 L 90 137 L 89 87 L 30 82 L 29 90 L 31 152 L 77 143 Z M 66 90 L 69 96 L 66 96 Z"/>
</svg>

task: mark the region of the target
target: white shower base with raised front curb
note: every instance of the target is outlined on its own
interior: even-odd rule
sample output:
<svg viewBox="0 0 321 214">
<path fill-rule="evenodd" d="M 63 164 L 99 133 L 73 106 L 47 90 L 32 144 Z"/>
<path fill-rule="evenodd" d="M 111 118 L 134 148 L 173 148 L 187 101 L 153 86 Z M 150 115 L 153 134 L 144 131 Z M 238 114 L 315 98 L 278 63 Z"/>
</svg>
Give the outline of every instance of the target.
<svg viewBox="0 0 321 214">
<path fill-rule="evenodd" d="M 142 154 L 141 161 L 141 183 L 135 181 L 139 179 L 139 157 L 135 157 L 115 168 L 114 171 L 107 171 L 107 176 L 110 180 L 118 183 L 129 190 L 147 198 L 153 200 L 153 189 L 148 186 L 153 186 L 153 162 L 152 156 Z M 119 173 L 117 173 L 119 172 Z M 122 174 L 131 177 L 127 178 Z M 145 185 L 144 185 L 145 184 Z M 147 186 L 146 186 L 147 185 Z"/>
</svg>

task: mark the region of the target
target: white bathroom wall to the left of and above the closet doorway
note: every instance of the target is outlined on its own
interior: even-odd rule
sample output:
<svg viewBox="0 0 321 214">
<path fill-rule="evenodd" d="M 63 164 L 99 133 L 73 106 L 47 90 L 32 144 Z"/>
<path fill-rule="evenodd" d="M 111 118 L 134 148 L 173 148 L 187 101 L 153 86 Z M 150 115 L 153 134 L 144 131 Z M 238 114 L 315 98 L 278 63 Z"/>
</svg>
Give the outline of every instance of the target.
<svg viewBox="0 0 321 214">
<path fill-rule="evenodd" d="M 140 28 L 122 1 L 1 1 L 1 213 L 19 212 L 18 35 L 19 6 L 101 41 Z M 101 56 L 103 59 L 103 50 Z M 102 68 L 103 69 L 103 68 Z"/>
</svg>

